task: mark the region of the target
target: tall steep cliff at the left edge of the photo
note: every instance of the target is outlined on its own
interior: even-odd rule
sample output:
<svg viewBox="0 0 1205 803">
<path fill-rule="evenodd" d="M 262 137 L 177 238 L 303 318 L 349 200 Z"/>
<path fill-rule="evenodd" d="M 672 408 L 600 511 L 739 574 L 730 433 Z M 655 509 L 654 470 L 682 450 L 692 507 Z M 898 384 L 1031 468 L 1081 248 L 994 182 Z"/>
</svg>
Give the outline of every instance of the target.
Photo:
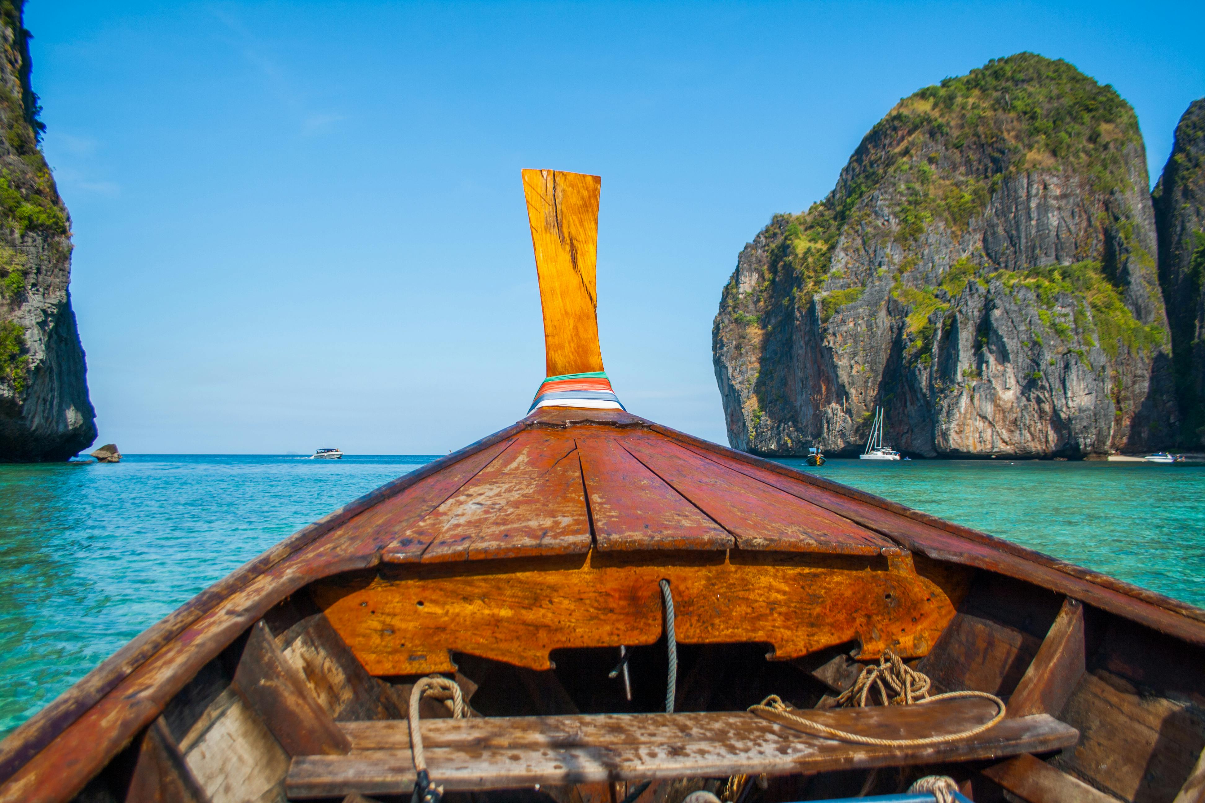
<svg viewBox="0 0 1205 803">
<path fill-rule="evenodd" d="M 66 460 L 96 438 L 70 218 L 39 149 L 22 5 L 0 4 L 0 462 Z"/>
</svg>

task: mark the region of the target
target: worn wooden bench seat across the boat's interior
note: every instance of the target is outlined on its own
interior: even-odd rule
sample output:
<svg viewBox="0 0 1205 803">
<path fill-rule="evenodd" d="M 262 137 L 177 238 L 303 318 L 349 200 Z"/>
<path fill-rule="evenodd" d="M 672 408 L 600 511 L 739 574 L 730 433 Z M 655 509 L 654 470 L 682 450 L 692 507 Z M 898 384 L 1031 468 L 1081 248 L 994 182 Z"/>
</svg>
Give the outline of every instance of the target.
<svg viewBox="0 0 1205 803">
<path fill-rule="evenodd" d="M 991 701 L 970 698 L 805 714 L 852 733 L 911 739 L 969 730 L 994 712 Z M 412 789 L 415 766 L 405 720 L 339 726 L 351 740 L 351 752 L 295 757 L 286 781 L 289 798 Z M 431 779 L 449 791 L 944 763 L 1045 752 L 1078 739 L 1075 728 L 1046 714 L 1004 720 L 971 738 L 918 748 L 823 739 L 745 712 L 423 720 L 422 728 Z"/>
</svg>

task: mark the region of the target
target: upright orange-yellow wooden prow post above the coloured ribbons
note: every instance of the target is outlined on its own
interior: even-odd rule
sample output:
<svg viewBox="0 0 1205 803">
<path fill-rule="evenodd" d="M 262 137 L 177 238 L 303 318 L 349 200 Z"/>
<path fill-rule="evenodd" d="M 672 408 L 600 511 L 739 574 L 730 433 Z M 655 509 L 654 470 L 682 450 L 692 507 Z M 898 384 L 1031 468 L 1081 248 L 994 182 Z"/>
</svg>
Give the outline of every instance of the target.
<svg viewBox="0 0 1205 803">
<path fill-rule="evenodd" d="M 523 171 L 549 377 L 602 370 L 595 311 L 601 187 L 598 176 Z"/>
</svg>

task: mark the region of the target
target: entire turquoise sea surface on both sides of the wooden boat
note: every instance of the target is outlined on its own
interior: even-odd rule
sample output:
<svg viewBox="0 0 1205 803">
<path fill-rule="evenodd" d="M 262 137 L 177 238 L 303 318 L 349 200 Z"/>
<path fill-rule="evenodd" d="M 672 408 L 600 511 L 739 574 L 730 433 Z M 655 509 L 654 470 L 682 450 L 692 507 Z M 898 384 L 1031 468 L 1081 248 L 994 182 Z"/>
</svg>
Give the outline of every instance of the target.
<svg viewBox="0 0 1205 803">
<path fill-rule="evenodd" d="M 205 586 L 430 460 L 0 465 L 0 736 Z M 830 460 L 809 471 L 1205 606 L 1205 465 Z"/>
</svg>

